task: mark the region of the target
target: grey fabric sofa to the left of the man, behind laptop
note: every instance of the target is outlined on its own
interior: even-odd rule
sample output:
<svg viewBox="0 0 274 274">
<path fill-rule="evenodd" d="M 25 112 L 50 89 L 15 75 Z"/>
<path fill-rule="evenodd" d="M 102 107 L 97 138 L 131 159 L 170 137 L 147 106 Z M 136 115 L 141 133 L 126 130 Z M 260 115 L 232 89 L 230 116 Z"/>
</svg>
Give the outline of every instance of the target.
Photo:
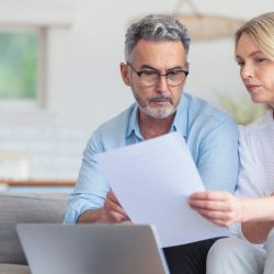
<svg viewBox="0 0 274 274">
<path fill-rule="evenodd" d="M 66 193 L 0 193 L 0 274 L 31 274 L 16 225 L 61 222 Z"/>
</svg>

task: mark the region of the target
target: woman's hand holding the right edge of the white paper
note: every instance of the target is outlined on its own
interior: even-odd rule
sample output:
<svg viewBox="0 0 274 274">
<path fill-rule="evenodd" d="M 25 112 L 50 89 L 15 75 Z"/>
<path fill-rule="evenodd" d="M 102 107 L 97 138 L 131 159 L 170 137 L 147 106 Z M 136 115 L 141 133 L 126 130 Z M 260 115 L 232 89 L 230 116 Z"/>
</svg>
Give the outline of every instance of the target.
<svg viewBox="0 0 274 274">
<path fill-rule="evenodd" d="M 212 222 L 228 227 L 241 221 L 241 201 L 228 192 L 206 191 L 193 193 L 190 206 Z"/>
</svg>

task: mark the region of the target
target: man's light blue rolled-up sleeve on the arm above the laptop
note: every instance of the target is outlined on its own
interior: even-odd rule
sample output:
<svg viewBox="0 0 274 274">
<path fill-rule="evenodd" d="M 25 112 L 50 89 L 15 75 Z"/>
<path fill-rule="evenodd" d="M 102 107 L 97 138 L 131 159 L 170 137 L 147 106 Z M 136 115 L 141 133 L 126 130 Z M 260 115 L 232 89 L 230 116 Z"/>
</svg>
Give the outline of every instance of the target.
<svg viewBox="0 0 274 274">
<path fill-rule="evenodd" d="M 99 139 L 94 133 L 83 151 L 79 178 L 64 216 L 65 224 L 76 224 L 83 212 L 102 207 L 110 191 L 110 185 L 95 160 L 95 155 L 103 152 Z"/>
</svg>

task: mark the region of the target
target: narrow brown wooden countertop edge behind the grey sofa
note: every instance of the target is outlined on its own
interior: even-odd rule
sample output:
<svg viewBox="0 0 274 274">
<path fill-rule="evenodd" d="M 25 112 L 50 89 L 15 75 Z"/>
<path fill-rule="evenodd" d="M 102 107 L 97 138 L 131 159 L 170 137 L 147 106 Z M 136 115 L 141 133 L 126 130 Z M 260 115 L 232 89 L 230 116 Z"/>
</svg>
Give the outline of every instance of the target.
<svg viewBox="0 0 274 274">
<path fill-rule="evenodd" d="M 0 185 L 10 186 L 73 186 L 75 180 L 0 180 Z"/>
</svg>

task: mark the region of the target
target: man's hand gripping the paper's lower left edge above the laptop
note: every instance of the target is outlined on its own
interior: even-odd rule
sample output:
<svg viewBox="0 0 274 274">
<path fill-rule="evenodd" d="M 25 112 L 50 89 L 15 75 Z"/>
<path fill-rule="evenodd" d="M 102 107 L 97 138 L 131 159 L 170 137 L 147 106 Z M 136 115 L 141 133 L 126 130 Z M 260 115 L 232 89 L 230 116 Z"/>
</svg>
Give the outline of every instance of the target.
<svg viewBox="0 0 274 274">
<path fill-rule="evenodd" d="M 102 208 L 102 219 L 105 222 L 121 222 L 127 217 L 127 214 L 121 206 L 118 199 L 111 191 L 106 194 L 104 206 Z M 128 221 L 127 221 L 128 222 Z"/>
</svg>

